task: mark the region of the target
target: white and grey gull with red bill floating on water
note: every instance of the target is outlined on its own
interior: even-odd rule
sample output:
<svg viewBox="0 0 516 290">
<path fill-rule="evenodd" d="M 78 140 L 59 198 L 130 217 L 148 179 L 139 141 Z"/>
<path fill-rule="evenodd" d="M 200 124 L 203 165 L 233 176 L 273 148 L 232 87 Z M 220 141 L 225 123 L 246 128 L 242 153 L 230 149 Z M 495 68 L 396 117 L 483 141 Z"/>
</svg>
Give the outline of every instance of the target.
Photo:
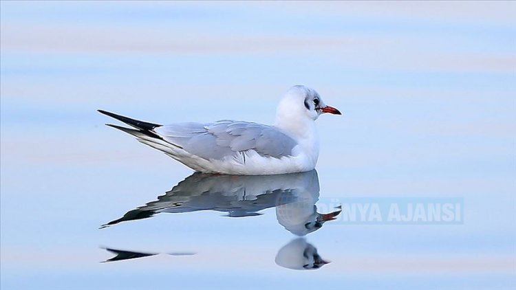
<svg viewBox="0 0 516 290">
<path fill-rule="evenodd" d="M 319 93 L 295 85 L 281 98 L 274 125 L 221 120 L 160 125 L 98 110 L 134 129 L 114 124 L 139 142 L 164 152 L 198 172 L 228 175 L 277 175 L 315 168 L 319 138 L 315 120 L 341 115 Z"/>
</svg>

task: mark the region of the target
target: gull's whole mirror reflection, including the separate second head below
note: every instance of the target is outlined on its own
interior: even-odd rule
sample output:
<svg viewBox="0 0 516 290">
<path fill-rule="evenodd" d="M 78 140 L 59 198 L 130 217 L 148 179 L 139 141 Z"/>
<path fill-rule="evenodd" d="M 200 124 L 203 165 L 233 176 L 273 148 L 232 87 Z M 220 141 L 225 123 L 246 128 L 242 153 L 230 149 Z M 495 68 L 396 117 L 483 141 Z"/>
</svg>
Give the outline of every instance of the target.
<svg viewBox="0 0 516 290">
<path fill-rule="evenodd" d="M 266 176 L 196 172 L 159 196 L 158 200 L 129 210 L 120 219 L 101 228 L 147 219 L 162 212 L 215 210 L 226 212 L 230 217 L 243 217 L 257 216 L 261 210 L 275 207 L 280 225 L 292 234 L 305 236 L 321 229 L 325 222 L 335 219 L 341 212 L 340 208 L 327 214 L 317 212 L 315 204 L 318 200 L 319 177 L 316 170 Z M 317 254 L 313 245 L 297 238 L 279 250 L 276 263 L 288 269 L 317 269 L 327 262 Z"/>
</svg>

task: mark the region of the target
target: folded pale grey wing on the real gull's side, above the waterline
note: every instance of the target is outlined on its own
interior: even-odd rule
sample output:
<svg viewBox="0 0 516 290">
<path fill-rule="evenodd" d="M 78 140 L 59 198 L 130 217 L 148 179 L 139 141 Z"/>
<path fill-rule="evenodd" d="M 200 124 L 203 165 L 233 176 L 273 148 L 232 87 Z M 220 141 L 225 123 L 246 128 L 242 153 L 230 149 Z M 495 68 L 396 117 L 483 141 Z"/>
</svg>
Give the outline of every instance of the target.
<svg viewBox="0 0 516 290">
<path fill-rule="evenodd" d="M 222 159 L 247 150 L 281 158 L 292 155 L 292 148 L 297 145 L 276 127 L 252 122 L 180 123 L 160 126 L 154 131 L 167 142 L 205 159 Z"/>
</svg>

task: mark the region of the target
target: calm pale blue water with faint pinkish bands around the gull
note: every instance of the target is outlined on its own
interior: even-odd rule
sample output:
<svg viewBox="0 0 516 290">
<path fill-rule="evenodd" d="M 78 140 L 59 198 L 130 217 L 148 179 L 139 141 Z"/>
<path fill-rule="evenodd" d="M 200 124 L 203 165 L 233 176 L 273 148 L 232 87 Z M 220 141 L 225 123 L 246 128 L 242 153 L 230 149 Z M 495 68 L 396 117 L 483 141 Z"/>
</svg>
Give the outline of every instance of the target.
<svg viewBox="0 0 516 290">
<path fill-rule="evenodd" d="M 0 5 L 1 289 L 516 287 L 515 3 Z M 192 170 L 96 112 L 270 124 L 296 84 L 343 112 L 315 179 L 203 179 L 151 212 Z M 460 212 L 345 221 L 377 201 Z"/>
</svg>

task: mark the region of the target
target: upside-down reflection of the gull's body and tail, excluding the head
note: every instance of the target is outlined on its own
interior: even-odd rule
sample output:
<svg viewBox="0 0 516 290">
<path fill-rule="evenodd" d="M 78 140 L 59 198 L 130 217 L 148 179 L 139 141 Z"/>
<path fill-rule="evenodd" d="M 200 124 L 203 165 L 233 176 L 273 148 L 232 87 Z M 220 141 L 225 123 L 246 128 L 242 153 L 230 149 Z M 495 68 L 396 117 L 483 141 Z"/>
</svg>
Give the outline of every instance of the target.
<svg viewBox="0 0 516 290">
<path fill-rule="evenodd" d="M 228 212 L 228 216 L 253 216 L 260 210 L 288 203 L 319 199 L 316 170 L 283 175 L 213 175 L 195 172 L 156 201 L 129 210 L 109 227 L 124 221 L 148 219 L 160 212 L 199 210 Z"/>
</svg>

